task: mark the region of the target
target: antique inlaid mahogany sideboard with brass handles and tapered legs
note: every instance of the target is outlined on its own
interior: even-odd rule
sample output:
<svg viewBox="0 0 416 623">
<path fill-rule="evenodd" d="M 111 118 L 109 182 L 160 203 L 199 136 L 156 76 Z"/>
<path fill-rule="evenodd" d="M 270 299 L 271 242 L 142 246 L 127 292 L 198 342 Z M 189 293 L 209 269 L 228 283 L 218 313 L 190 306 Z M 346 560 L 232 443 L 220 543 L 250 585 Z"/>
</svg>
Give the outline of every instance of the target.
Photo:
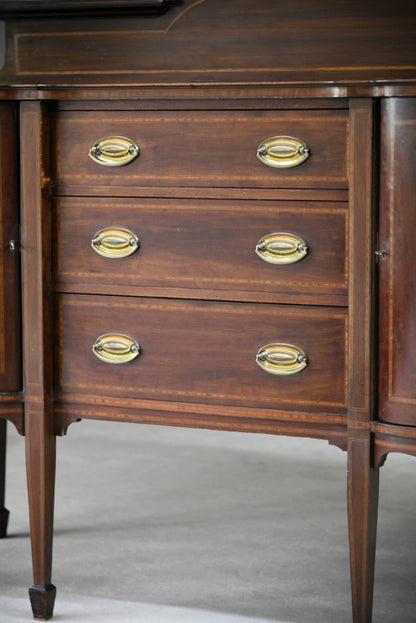
<svg viewBox="0 0 416 623">
<path fill-rule="evenodd" d="M 347 451 L 370 623 L 380 467 L 416 455 L 415 6 L 6 0 L 0 37 L 0 529 L 9 420 L 35 618 L 55 437 L 91 418 Z"/>
</svg>

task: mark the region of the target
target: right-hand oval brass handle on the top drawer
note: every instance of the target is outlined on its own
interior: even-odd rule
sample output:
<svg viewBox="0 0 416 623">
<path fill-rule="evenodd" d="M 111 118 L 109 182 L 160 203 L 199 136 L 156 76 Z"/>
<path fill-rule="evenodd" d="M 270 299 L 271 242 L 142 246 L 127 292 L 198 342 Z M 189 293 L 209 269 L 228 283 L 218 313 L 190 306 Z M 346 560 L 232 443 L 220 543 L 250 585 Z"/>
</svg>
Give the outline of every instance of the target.
<svg viewBox="0 0 416 623">
<path fill-rule="evenodd" d="M 293 136 L 272 136 L 260 143 L 257 157 L 269 167 L 297 167 L 309 158 L 307 145 Z"/>
</svg>

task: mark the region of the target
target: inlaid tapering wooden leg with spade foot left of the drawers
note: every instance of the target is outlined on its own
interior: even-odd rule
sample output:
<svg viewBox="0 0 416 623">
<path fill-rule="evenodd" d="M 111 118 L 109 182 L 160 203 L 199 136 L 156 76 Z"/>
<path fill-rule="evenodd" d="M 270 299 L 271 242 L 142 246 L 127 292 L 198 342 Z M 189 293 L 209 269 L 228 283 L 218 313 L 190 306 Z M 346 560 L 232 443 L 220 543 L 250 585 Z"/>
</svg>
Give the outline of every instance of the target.
<svg viewBox="0 0 416 623">
<path fill-rule="evenodd" d="M 22 304 L 25 387 L 26 466 L 34 586 L 30 599 L 35 618 L 52 615 L 56 589 L 51 583 L 55 435 L 53 423 L 52 315 L 48 178 L 48 127 L 39 102 L 21 106 Z"/>
</svg>

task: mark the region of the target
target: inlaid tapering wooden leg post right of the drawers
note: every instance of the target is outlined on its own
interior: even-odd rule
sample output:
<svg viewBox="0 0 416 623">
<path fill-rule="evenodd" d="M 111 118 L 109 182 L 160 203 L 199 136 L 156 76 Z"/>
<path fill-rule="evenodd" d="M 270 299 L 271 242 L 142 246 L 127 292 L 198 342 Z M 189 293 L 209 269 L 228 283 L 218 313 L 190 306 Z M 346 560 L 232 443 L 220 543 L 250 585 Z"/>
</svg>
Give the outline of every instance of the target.
<svg viewBox="0 0 416 623">
<path fill-rule="evenodd" d="M 379 473 L 371 462 L 374 405 L 374 110 L 351 102 L 348 526 L 354 623 L 372 620 Z"/>
</svg>

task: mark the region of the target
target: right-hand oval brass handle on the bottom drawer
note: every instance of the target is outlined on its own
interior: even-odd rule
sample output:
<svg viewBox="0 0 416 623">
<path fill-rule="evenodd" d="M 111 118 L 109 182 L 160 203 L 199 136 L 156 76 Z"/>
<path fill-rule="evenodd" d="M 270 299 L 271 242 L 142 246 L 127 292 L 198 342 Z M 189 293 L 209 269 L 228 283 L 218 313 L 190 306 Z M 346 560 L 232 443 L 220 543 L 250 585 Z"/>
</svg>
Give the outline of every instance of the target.
<svg viewBox="0 0 416 623">
<path fill-rule="evenodd" d="M 292 344 L 266 344 L 256 355 L 256 363 L 269 374 L 297 374 L 308 365 L 306 353 Z"/>
</svg>

